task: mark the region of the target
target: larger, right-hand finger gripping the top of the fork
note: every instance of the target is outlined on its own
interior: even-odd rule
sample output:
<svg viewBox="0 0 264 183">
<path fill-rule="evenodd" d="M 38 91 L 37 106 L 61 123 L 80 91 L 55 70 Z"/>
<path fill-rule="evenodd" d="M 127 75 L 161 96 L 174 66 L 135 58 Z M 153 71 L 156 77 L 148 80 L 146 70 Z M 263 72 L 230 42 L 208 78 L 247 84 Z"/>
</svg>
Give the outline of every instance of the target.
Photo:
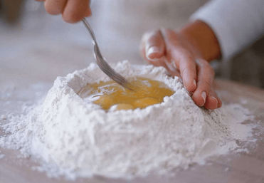
<svg viewBox="0 0 264 183">
<path fill-rule="evenodd" d="M 88 0 L 68 0 L 63 11 L 63 20 L 68 23 L 75 23 L 85 16 L 89 16 L 90 12 Z"/>
</svg>

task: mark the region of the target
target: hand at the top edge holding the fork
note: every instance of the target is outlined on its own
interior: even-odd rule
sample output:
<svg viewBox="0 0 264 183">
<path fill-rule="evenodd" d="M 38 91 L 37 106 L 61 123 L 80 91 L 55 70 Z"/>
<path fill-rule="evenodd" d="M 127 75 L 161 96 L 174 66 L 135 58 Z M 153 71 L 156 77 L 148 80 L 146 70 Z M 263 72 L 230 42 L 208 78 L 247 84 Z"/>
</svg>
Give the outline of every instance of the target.
<svg viewBox="0 0 264 183">
<path fill-rule="evenodd" d="M 75 23 L 86 16 L 90 16 L 90 0 L 36 0 L 45 1 L 45 9 L 48 14 L 62 14 L 63 20 L 68 23 Z"/>
</svg>

